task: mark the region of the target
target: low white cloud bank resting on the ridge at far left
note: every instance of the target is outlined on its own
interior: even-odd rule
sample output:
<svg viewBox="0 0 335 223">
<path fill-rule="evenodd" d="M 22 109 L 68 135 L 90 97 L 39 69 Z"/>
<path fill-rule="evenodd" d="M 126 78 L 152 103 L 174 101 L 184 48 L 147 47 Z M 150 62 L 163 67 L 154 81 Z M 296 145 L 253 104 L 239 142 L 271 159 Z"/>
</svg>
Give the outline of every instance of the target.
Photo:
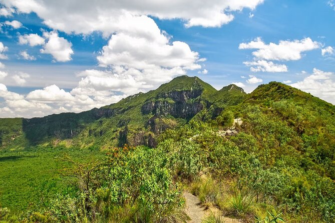
<svg viewBox="0 0 335 223">
<path fill-rule="evenodd" d="M 57 85 L 33 90 L 25 96 L 8 91 L 6 85 L 0 83 L 0 97 L 5 99 L 4 107 L 0 108 L 0 116 L 34 117 L 50 113 L 80 112 L 117 102 L 126 96 L 125 94 L 113 95 L 111 91 L 96 91 L 93 88 L 80 87 L 68 92 Z"/>
</svg>

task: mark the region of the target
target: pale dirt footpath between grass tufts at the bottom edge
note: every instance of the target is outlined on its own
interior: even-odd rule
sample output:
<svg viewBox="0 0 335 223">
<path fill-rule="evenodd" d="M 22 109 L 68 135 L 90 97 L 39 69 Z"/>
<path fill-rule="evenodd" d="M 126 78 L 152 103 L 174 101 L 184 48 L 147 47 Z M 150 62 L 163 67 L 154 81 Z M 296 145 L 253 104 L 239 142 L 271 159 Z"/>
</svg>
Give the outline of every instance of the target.
<svg viewBox="0 0 335 223">
<path fill-rule="evenodd" d="M 216 207 L 210 207 L 206 209 L 201 206 L 201 202 L 197 196 L 194 196 L 192 193 L 185 191 L 184 197 L 186 200 L 186 213 L 191 218 L 188 223 L 201 223 L 201 221 L 207 217 L 211 212 L 219 213 L 219 209 Z M 225 223 L 237 223 L 239 222 L 237 219 L 232 219 L 225 217 Z"/>
</svg>

